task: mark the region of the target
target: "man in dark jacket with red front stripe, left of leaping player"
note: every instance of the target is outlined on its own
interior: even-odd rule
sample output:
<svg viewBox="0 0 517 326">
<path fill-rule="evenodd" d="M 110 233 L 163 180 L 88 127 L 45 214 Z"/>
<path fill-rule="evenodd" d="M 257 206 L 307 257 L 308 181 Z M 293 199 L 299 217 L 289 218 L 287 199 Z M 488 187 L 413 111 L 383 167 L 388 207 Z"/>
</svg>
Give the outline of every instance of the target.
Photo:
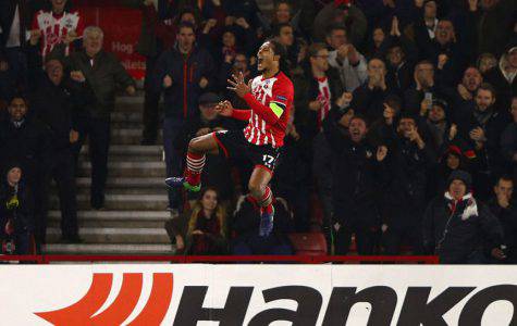
<svg viewBox="0 0 517 326">
<path fill-rule="evenodd" d="M 182 156 L 174 152 L 174 138 L 185 122 L 198 114 L 201 92 L 216 86 L 213 60 L 195 45 L 195 39 L 194 26 L 181 23 L 176 46 L 160 55 L 155 72 L 155 90 L 163 91 L 165 101 L 163 149 L 168 176 L 181 174 Z M 169 190 L 169 208 L 181 208 L 177 190 Z"/>
</svg>

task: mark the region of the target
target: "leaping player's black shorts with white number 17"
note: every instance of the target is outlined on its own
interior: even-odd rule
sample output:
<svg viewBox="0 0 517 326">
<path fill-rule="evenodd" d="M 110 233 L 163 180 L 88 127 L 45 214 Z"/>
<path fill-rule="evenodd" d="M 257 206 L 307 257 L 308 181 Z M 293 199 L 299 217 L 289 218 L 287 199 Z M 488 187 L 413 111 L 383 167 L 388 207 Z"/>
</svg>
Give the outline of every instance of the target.
<svg viewBox="0 0 517 326">
<path fill-rule="evenodd" d="M 254 167 L 262 167 L 271 174 L 278 164 L 280 148 L 271 145 L 257 146 L 246 140 L 243 130 L 222 130 L 213 133 L 213 138 L 219 145 L 220 153 L 226 159 L 248 159 Z"/>
</svg>

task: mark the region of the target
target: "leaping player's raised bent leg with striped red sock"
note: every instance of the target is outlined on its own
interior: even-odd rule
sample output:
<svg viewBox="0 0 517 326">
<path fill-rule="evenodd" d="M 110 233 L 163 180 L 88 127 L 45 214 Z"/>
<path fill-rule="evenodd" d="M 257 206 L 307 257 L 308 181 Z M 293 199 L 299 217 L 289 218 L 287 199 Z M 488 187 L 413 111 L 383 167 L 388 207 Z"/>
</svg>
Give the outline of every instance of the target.
<svg viewBox="0 0 517 326">
<path fill-rule="evenodd" d="M 185 174 L 167 178 L 167 186 L 171 188 L 184 187 L 194 192 L 201 189 L 201 173 L 205 166 L 206 153 L 217 154 L 219 152 L 218 142 L 212 134 L 199 136 L 189 141 Z"/>
</svg>

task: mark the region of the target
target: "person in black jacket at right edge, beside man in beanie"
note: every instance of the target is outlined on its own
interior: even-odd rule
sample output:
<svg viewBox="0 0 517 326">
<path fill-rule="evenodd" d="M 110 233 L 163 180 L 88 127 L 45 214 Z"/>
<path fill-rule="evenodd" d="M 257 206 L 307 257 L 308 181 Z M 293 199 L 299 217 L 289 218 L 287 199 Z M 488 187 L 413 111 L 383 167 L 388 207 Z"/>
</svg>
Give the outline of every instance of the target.
<svg viewBox="0 0 517 326">
<path fill-rule="evenodd" d="M 504 253 L 506 258 L 504 263 L 517 264 L 517 211 L 512 201 L 514 192 L 514 181 L 510 177 L 503 176 L 494 186 L 494 198 L 489 202 L 492 214 L 501 223 L 504 233 L 504 243 L 506 246 Z M 497 260 L 492 260 L 497 262 Z"/>
</svg>

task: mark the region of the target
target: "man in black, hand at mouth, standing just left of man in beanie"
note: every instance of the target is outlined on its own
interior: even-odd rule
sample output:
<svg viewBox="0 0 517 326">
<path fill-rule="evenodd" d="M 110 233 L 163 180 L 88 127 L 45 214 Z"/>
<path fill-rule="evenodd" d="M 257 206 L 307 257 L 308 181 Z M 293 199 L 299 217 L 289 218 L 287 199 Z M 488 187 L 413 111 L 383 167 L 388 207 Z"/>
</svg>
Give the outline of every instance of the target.
<svg viewBox="0 0 517 326">
<path fill-rule="evenodd" d="M 392 129 L 393 130 L 393 129 Z M 436 161 L 432 145 L 426 143 L 411 115 L 402 115 L 395 133 L 387 136 L 391 180 L 382 197 L 383 247 L 398 254 L 402 243 L 420 252 L 421 212 L 426 205 L 427 174 Z"/>
</svg>

